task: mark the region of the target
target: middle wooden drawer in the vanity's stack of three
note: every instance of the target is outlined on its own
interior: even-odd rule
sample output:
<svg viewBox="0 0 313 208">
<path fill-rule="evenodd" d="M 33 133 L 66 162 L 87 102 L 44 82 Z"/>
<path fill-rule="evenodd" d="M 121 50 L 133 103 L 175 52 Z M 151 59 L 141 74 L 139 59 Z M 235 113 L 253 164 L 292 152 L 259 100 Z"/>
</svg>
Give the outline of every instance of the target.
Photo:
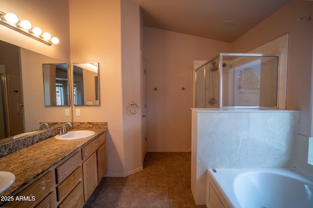
<svg viewBox="0 0 313 208">
<path fill-rule="evenodd" d="M 61 201 L 67 193 L 73 189 L 77 183 L 82 179 L 82 166 L 78 166 L 58 187 L 57 200 Z"/>
</svg>

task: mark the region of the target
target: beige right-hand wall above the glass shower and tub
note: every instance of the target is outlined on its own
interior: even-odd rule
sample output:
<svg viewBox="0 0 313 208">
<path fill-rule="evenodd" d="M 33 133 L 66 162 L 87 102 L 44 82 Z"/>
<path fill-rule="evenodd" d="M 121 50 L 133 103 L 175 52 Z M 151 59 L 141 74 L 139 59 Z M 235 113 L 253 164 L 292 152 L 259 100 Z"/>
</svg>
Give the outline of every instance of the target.
<svg viewBox="0 0 313 208">
<path fill-rule="evenodd" d="M 307 136 L 312 135 L 313 22 L 298 19 L 310 15 L 313 16 L 312 1 L 293 0 L 232 42 L 233 53 L 246 53 L 289 33 L 286 108 L 301 110 L 299 133 Z"/>
</svg>

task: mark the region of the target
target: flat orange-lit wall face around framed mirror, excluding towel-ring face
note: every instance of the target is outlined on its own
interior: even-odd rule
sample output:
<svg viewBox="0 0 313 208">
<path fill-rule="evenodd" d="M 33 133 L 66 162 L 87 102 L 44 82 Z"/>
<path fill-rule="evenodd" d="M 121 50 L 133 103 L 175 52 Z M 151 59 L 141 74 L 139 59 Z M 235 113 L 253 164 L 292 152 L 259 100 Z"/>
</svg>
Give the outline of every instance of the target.
<svg viewBox="0 0 313 208">
<path fill-rule="evenodd" d="M 69 0 L 71 62 L 99 62 L 101 103 L 73 107 L 73 120 L 108 122 L 109 175 L 124 174 L 120 6 L 119 0 Z"/>
</svg>

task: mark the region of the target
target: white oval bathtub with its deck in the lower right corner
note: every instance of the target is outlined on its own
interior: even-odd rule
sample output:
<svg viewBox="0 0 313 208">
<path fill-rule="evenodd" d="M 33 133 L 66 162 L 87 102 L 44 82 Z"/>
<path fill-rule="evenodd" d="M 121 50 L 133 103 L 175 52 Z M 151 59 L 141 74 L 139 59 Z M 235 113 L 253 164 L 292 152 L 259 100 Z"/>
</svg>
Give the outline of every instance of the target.
<svg viewBox="0 0 313 208">
<path fill-rule="evenodd" d="M 313 208 L 313 180 L 291 169 L 209 169 L 207 208 Z"/>
</svg>

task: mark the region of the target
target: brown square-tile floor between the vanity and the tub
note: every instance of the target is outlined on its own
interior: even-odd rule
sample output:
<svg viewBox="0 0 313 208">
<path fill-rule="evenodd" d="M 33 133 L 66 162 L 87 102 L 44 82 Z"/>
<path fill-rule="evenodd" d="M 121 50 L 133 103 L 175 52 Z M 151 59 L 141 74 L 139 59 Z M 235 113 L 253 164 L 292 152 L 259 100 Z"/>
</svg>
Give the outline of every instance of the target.
<svg viewBox="0 0 313 208">
<path fill-rule="evenodd" d="M 104 177 L 84 208 L 205 208 L 190 189 L 190 152 L 147 152 L 143 170 Z"/>
</svg>

